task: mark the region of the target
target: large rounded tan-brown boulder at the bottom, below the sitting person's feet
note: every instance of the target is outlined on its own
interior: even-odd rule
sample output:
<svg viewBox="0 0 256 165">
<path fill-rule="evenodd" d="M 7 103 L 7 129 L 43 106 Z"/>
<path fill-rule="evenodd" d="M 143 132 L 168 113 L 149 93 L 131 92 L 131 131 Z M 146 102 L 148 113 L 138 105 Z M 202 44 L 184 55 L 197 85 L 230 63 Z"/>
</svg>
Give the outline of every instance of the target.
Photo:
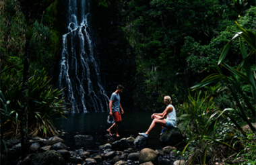
<svg viewBox="0 0 256 165">
<path fill-rule="evenodd" d="M 139 152 L 139 163 L 157 162 L 158 154 L 150 148 L 144 148 Z"/>
</svg>

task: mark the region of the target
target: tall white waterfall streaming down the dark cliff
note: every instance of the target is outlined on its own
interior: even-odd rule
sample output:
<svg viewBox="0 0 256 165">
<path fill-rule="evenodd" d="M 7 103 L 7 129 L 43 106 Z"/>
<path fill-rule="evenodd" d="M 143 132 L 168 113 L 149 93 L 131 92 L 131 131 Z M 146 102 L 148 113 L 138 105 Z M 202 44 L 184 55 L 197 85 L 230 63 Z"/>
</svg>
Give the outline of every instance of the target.
<svg viewBox="0 0 256 165">
<path fill-rule="evenodd" d="M 90 36 L 90 16 L 90 0 L 69 0 L 69 25 L 68 33 L 63 35 L 59 88 L 65 88 L 64 97 L 72 112 L 108 109 L 109 99 L 101 85 Z"/>
</svg>

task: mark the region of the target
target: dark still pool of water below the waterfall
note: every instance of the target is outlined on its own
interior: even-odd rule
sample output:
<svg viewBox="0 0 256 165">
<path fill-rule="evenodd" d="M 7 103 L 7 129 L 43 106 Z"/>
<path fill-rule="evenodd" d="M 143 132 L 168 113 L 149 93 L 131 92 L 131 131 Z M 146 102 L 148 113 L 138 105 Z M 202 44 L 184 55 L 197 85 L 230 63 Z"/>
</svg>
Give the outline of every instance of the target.
<svg viewBox="0 0 256 165">
<path fill-rule="evenodd" d="M 95 113 L 69 113 L 65 115 L 67 119 L 54 119 L 53 123 L 58 130 L 68 132 L 68 134 L 61 136 L 65 140 L 65 144 L 71 150 L 80 148 L 94 150 L 98 146 L 106 143 L 112 143 L 116 140 L 121 140 L 123 137 L 133 136 L 137 137 L 138 132 L 147 131 L 152 119 L 151 111 L 125 111 L 122 115 L 122 123 L 119 124 L 119 135 L 110 137 L 106 129 L 110 124 L 106 122 L 108 112 Z M 115 130 L 113 129 L 113 133 Z M 150 132 L 146 139 L 145 148 L 152 148 L 153 150 L 162 149 L 162 144 L 159 140 L 161 132 L 160 125 L 156 125 Z M 87 142 L 75 142 L 73 136 L 77 134 L 92 135 L 93 140 Z"/>
</svg>

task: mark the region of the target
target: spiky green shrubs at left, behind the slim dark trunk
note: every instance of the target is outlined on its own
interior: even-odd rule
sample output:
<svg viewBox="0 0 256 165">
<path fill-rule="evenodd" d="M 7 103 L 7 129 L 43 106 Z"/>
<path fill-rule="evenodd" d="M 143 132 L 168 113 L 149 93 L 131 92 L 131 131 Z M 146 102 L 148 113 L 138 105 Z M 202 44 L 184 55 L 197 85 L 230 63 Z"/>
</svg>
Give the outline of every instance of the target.
<svg viewBox="0 0 256 165">
<path fill-rule="evenodd" d="M 20 101 L 22 101 L 22 70 L 11 69 L 0 74 L 0 87 L 5 99 L 9 101 L 10 111 L 20 114 Z M 52 123 L 51 115 L 62 114 L 65 109 L 64 99 L 61 97 L 62 91 L 52 89 L 50 80 L 46 72 L 36 70 L 29 78 L 28 90 L 28 133 L 29 135 L 55 135 L 57 131 Z M 15 113 L 13 113 L 15 114 Z M 15 116 L 14 116 L 15 118 Z M 19 118 L 18 118 L 19 123 Z M 7 131 L 4 137 L 17 137 L 20 131 L 15 131 L 16 125 L 7 123 Z"/>
</svg>

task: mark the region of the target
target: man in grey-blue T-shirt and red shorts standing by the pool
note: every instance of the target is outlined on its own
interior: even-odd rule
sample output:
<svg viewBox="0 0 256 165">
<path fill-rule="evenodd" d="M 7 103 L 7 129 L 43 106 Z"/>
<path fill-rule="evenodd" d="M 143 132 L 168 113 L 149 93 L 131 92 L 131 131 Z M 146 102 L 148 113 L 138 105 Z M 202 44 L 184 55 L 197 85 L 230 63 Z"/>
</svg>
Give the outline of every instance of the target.
<svg viewBox="0 0 256 165">
<path fill-rule="evenodd" d="M 118 85 L 117 91 L 115 91 L 115 93 L 112 93 L 110 102 L 109 102 L 109 115 L 110 116 L 113 115 L 115 119 L 115 123 L 113 123 L 113 125 L 111 125 L 111 127 L 109 127 L 108 129 L 106 129 L 106 131 L 109 132 L 109 135 L 112 135 L 111 129 L 115 127 L 117 137 L 120 137 L 118 133 L 118 125 L 122 121 L 121 114 L 124 113 L 123 108 L 121 107 L 121 104 L 120 104 L 120 95 L 119 95 L 119 93 L 123 93 L 123 89 L 125 88 L 122 85 Z M 121 109 L 121 113 L 120 113 L 120 109 Z"/>
</svg>

